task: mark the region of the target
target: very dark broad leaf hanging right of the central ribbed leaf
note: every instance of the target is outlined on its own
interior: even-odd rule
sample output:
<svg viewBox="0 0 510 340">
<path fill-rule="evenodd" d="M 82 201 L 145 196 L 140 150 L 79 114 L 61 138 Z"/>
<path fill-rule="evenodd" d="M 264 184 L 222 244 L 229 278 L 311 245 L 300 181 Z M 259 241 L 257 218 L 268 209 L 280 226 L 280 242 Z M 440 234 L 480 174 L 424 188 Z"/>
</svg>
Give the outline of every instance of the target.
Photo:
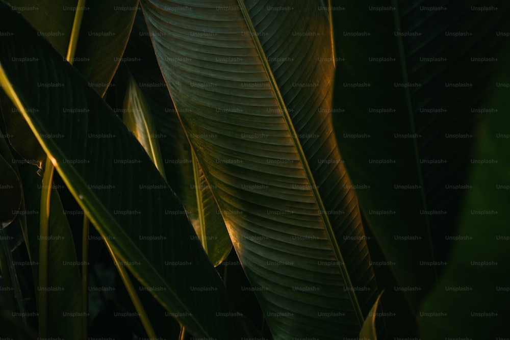
<svg viewBox="0 0 510 340">
<path fill-rule="evenodd" d="M 370 227 L 415 312 L 447 263 L 510 4 L 341 1 L 334 123 Z M 506 15 L 505 15 L 506 14 Z M 453 85 L 452 85 L 453 84 Z M 394 287 L 386 287 L 394 289 Z"/>
</svg>

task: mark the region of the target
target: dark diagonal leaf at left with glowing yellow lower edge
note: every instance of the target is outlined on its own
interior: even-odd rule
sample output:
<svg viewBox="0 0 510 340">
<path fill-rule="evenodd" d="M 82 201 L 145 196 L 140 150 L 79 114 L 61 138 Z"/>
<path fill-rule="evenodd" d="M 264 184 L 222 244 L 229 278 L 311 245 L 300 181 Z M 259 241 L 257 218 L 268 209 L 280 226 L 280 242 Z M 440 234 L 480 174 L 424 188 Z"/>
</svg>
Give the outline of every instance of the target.
<svg viewBox="0 0 510 340">
<path fill-rule="evenodd" d="M 0 31 L 12 33 L 0 38 L 0 84 L 120 259 L 118 265 L 195 336 L 240 338 L 241 317 L 191 237 L 182 206 L 129 129 L 80 73 L 5 5 L 0 5 Z M 13 62 L 29 56 L 39 61 Z M 162 213 L 166 210 L 177 213 Z"/>
</svg>

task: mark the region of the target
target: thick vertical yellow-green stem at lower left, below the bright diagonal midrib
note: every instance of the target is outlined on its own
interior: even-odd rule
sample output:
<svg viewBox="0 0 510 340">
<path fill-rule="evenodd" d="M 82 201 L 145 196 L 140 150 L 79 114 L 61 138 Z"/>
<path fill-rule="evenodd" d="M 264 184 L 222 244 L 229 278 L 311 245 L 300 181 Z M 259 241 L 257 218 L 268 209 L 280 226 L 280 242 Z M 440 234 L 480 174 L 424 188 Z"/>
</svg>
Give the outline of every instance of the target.
<svg viewBox="0 0 510 340">
<path fill-rule="evenodd" d="M 48 274 L 49 274 L 49 208 L 52 194 L 54 167 L 51 158 L 46 158 L 41 189 L 41 218 L 39 231 L 39 337 L 47 337 L 48 333 Z"/>
</svg>

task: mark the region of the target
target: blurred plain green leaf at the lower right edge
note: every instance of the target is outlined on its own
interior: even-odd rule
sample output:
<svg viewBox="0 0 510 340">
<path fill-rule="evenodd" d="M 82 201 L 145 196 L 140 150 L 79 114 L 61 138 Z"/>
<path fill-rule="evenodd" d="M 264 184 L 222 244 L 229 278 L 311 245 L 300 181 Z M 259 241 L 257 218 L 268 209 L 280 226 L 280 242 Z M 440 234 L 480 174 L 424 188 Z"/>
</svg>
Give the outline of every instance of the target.
<svg viewBox="0 0 510 340">
<path fill-rule="evenodd" d="M 499 40 L 507 39 L 499 37 Z M 506 43 L 506 40 L 504 40 Z M 422 339 L 508 337 L 510 311 L 510 49 L 500 59 L 473 154 L 472 187 L 462 209 L 459 238 L 439 284 L 420 310 Z M 506 84 L 498 87 L 497 84 Z"/>
</svg>

